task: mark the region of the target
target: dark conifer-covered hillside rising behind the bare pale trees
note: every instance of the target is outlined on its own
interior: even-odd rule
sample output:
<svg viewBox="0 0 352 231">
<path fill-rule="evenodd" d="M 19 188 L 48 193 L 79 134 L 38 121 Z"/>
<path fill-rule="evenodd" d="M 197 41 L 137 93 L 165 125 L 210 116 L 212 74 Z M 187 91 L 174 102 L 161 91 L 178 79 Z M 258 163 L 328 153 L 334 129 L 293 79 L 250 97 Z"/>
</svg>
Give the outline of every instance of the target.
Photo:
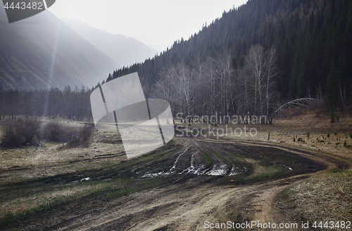
<svg viewBox="0 0 352 231">
<path fill-rule="evenodd" d="M 332 111 L 336 107 L 346 110 L 352 96 L 352 66 L 347 65 L 352 63 L 351 37 L 352 1 L 251 0 L 239 8 L 224 11 L 222 18 L 203 25 L 187 41 L 183 38 L 175 41 L 159 56 L 115 70 L 107 81 L 137 71 L 145 93 L 151 96 L 155 92 L 153 85 L 165 77 L 161 73 L 168 73 L 180 64 L 189 68 L 189 75 L 193 76 L 197 66 L 211 57 L 217 66 L 215 75 L 221 75 L 219 61 L 227 54 L 233 70 L 227 82 L 233 80 L 236 85 L 241 70 L 249 66 L 246 57 L 249 58 L 251 46 L 259 44 L 265 55 L 272 46 L 275 49 L 272 63 L 276 68 L 272 79 L 275 87 L 270 92 L 276 92 L 277 97 L 272 101 L 316 97 L 325 99 Z M 252 104 L 258 107 L 257 101 L 258 105 L 265 102 L 257 99 L 260 92 L 265 92 L 265 86 L 263 90 L 257 89 L 257 81 L 253 81 L 255 84 L 249 85 L 253 92 Z M 221 91 L 221 86 L 218 90 Z M 232 97 L 229 105 L 233 105 L 234 97 L 231 94 L 229 97 Z M 239 111 L 240 106 L 230 106 L 232 113 Z M 222 106 L 224 113 L 225 107 Z M 254 108 L 253 112 L 261 109 Z"/>
</svg>

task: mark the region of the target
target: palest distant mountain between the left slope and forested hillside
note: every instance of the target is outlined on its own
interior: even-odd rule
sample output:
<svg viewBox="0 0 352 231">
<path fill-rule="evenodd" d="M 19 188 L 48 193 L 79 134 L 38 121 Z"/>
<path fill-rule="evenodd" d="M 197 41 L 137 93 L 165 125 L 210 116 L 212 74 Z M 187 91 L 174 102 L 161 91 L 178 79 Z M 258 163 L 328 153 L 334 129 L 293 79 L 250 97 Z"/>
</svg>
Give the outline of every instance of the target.
<svg viewBox="0 0 352 231">
<path fill-rule="evenodd" d="M 96 48 L 120 65 L 129 66 L 153 57 L 158 51 L 146 44 L 125 35 L 111 35 L 78 20 L 66 18 L 63 22 L 69 25 L 78 35 L 87 39 Z"/>
</svg>

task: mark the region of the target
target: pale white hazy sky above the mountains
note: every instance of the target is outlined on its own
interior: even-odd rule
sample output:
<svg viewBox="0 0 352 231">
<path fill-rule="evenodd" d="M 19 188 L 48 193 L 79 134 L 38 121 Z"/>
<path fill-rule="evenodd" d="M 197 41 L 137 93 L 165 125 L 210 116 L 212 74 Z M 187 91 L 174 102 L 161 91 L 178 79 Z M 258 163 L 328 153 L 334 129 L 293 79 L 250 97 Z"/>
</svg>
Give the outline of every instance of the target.
<svg viewBox="0 0 352 231">
<path fill-rule="evenodd" d="M 49 8 L 58 18 L 74 18 L 110 32 L 133 37 L 158 50 L 199 32 L 203 23 L 247 0 L 56 0 Z"/>
</svg>

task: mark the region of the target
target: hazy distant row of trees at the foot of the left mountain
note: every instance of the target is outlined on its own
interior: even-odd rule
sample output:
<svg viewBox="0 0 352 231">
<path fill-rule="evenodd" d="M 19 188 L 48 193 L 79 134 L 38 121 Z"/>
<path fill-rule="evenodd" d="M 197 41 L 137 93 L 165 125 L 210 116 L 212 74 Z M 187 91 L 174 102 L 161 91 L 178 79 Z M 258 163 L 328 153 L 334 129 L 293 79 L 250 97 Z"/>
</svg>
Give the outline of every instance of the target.
<svg viewBox="0 0 352 231">
<path fill-rule="evenodd" d="M 0 91 L 0 118 L 18 115 L 47 116 L 50 118 L 91 120 L 90 94 L 94 88 L 82 86 L 42 90 L 8 89 Z"/>
</svg>

